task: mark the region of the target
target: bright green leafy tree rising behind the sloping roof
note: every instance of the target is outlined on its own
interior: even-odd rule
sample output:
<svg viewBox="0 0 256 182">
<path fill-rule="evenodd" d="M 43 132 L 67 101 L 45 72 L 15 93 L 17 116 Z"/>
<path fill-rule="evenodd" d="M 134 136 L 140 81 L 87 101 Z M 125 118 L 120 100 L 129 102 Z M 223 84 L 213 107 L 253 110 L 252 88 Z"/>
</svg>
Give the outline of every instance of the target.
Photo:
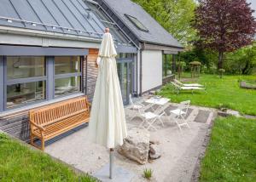
<svg viewBox="0 0 256 182">
<path fill-rule="evenodd" d="M 194 0 L 133 0 L 157 20 L 183 45 L 188 45 L 196 37 L 191 22 L 195 18 Z"/>
</svg>

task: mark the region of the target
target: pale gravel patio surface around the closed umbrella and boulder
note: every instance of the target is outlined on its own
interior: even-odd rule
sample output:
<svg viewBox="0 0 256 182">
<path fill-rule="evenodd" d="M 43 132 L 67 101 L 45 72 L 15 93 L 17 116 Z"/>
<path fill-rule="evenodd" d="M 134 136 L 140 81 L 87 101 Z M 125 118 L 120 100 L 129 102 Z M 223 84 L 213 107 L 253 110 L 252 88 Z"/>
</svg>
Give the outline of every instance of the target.
<svg viewBox="0 0 256 182">
<path fill-rule="evenodd" d="M 169 103 L 163 108 L 165 111 L 177 108 L 177 104 Z M 148 110 L 150 110 L 148 106 Z M 130 121 L 133 111 L 125 108 L 128 129 L 136 128 L 142 120 L 135 118 Z M 145 165 L 119 155 L 114 152 L 114 164 L 133 174 L 131 181 L 144 181 L 143 169 L 153 169 L 155 181 L 191 181 L 195 179 L 198 159 L 206 148 L 206 139 L 212 126 L 212 120 L 217 116 L 213 109 L 191 106 L 187 120 L 189 128 L 179 131 L 170 117 L 163 117 L 165 127 L 156 126 L 157 131 L 150 131 L 150 139 L 160 142 L 162 156 Z M 87 140 L 88 128 L 81 128 L 73 134 L 57 139 L 46 146 L 45 151 L 63 162 L 85 173 L 94 174 L 108 165 L 108 150 Z M 112 180 L 116 181 L 116 180 Z"/>
</svg>

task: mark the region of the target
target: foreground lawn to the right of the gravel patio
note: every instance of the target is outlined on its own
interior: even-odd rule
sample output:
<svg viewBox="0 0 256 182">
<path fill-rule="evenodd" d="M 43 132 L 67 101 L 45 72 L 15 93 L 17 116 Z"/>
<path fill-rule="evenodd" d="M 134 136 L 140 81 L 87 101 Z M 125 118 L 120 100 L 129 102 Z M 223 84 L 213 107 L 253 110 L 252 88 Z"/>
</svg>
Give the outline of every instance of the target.
<svg viewBox="0 0 256 182">
<path fill-rule="evenodd" d="M 201 162 L 200 181 L 256 181 L 256 121 L 218 118 Z"/>
</svg>

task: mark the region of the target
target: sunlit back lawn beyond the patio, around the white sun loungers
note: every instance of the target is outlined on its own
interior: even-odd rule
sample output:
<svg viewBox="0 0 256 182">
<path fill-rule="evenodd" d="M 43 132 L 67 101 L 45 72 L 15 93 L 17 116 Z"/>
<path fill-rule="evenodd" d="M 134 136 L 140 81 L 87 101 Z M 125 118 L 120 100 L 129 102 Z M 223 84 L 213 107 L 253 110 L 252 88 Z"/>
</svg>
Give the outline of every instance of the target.
<svg viewBox="0 0 256 182">
<path fill-rule="evenodd" d="M 202 75 L 199 78 L 201 84 L 207 88 L 207 93 L 197 91 L 181 91 L 180 94 L 172 92 L 172 87 L 166 85 L 160 91 L 160 95 L 170 98 L 172 102 L 191 100 L 192 105 L 201 105 L 218 108 L 224 105 L 230 109 L 240 111 L 243 114 L 256 115 L 256 90 L 248 90 L 239 87 L 239 80 L 256 80 L 256 76 L 224 76 Z"/>
</svg>

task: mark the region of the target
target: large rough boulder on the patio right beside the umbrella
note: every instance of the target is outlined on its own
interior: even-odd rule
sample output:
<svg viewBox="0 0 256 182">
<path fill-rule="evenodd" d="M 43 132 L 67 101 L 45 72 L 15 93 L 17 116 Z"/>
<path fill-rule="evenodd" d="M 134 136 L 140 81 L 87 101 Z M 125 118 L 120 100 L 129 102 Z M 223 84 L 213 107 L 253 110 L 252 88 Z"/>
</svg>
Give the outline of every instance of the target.
<svg viewBox="0 0 256 182">
<path fill-rule="evenodd" d="M 138 162 L 145 164 L 148 162 L 149 151 L 149 137 L 148 131 L 132 128 L 128 131 L 128 136 L 124 139 L 124 145 L 119 147 L 119 154 Z"/>
</svg>

